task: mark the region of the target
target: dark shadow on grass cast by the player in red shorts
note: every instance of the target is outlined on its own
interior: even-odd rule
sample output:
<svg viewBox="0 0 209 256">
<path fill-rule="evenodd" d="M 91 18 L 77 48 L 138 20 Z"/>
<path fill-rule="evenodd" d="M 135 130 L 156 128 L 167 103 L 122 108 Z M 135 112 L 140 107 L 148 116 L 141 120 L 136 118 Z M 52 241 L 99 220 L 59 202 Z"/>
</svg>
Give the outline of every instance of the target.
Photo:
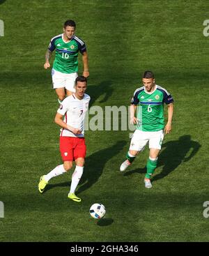
<svg viewBox="0 0 209 256">
<path fill-rule="evenodd" d="M 107 163 L 108 160 L 111 159 L 111 156 L 115 156 L 118 153 L 118 151 L 120 151 L 121 148 L 125 146 L 126 143 L 127 142 L 125 141 L 117 142 L 113 146 L 110 146 L 107 149 L 102 149 L 100 151 L 97 151 L 93 153 L 91 156 L 88 156 L 88 158 L 86 158 L 84 174 L 82 175 L 82 179 L 79 182 L 79 186 L 78 186 L 79 188 L 76 194 L 82 193 L 84 190 L 91 188 L 91 186 L 98 181 L 98 179 L 100 178 L 104 170 L 104 165 Z M 72 172 L 74 172 L 74 170 L 75 170 L 75 167 L 73 167 L 72 170 L 70 170 L 70 176 L 72 176 Z M 46 186 L 44 193 L 46 193 L 47 190 L 50 190 L 56 187 L 70 188 L 70 181 L 49 184 Z"/>
</svg>

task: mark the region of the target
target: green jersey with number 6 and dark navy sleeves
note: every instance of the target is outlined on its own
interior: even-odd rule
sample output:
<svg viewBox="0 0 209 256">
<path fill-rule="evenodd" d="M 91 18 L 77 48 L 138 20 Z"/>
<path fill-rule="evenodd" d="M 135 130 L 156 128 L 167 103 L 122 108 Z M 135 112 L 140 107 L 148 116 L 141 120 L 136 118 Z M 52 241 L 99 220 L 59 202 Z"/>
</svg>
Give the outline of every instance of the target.
<svg viewBox="0 0 209 256">
<path fill-rule="evenodd" d="M 164 128 L 164 103 L 173 103 L 171 94 L 156 84 L 155 91 L 148 93 L 144 86 L 134 91 L 131 104 L 137 107 L 138 130 L 155 132 Z"/>
</svg>

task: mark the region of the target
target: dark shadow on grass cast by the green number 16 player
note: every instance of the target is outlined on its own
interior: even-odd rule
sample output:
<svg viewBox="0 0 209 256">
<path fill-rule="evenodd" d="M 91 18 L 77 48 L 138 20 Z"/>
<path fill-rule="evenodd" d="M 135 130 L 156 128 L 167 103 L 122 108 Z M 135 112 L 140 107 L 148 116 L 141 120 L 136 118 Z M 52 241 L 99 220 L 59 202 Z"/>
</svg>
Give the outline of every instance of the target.
<svg viewBox="0 0 209 256">
<path fill-rule="evenodd" d="M 107 80 L 100 82 L 100 84 L 88 86 L 86 93 L 91 96 L 89 107 L 91 107 L 93 103 L 95 103 L 95 100 L 97 100 L 101 95 L 104 95 L 104 97 L 100 100 L 99 103 L 105 103 L 108 100 L 114 91 L 111 88 L 111 84 L 112 82 Z"/>
</svg>

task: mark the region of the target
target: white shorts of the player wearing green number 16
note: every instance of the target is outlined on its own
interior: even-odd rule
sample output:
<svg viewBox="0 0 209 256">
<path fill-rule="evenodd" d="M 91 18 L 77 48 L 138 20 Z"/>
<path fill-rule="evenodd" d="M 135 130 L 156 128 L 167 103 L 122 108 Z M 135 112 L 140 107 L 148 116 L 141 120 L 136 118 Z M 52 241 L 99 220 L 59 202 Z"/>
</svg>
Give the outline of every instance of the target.
<svg viewBox="0 0 209 256">
<path fill-rule="evenodd" d="M 53 89 L 57 88 L 65 88 L 68 91 L 72 91 L 75 93 L 75 79 L 77 77 L 77 73 L 65 74 L 61 73 L 52 68 L 52 84 Z"/>
</svg>

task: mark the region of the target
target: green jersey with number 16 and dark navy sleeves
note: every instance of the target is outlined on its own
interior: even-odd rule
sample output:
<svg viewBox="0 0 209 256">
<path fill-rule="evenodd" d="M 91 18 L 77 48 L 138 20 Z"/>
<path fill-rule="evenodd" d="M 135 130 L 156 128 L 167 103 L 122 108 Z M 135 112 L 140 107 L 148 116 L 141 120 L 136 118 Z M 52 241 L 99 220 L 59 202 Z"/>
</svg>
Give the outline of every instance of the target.
<svg viewBox="0 0 209 256">
<path fill-rule="evenodd" d="M 75 73 L 78 71 L 77 57 L 79 52 L 86 52 L 85 43 L 77 36 L 72 36 L 68 43 L 63 40 L 63 33 L 54 36 L 49 43 L 49 51 L 55 52 L 53 68 L 61 73 Z"/>
</svg>

